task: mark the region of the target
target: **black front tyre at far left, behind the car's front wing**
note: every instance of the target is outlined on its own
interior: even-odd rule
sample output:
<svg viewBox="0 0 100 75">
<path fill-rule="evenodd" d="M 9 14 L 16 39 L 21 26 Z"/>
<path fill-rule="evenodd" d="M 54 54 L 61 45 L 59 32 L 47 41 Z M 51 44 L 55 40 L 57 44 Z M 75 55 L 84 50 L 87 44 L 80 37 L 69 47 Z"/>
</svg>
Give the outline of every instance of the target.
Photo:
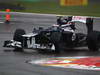
<svg viewBox="0 0 100 75">
<path fill-rule="evenodd" d="M 21 42 L 21 46 L 22 48 L 19 47 L 15 47 L 14 51 L 23 51 L 23 43 L 25 44 L 26 42 L 23 42 L 23 37 L 22 35 L 26 34 L 25 30 L 23 29 L 16 29 L 14 36 L 13 36 L 13 40 L 14 41 L 18 41 Z"/>
</svg>

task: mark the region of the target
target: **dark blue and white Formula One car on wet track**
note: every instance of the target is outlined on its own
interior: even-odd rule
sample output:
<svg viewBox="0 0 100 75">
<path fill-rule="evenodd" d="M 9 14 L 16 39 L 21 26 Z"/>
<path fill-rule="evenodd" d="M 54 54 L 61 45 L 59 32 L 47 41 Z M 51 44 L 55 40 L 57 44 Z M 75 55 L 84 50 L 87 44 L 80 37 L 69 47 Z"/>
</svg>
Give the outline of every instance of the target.
<svg viewBox="0 0 100 75">
<path fill-rule="evenodd" d="M 87 34 L 75 33 L 75 22 L 86 24 Z M 17 29 L 13 40 L 4 42 L 4 47 L 14 47 L 23 51 L 24 48 L 50 49 L 59 53 L 62 49 L 88 46 L 89 50 L 99 50 L 100 32 L 93 31 L 93 18 L 82 16 L 59 17 L 57 24 L 47 29 L 34 28 L 32 33 L 26 34 L 23 29 Z"/>
</svg>

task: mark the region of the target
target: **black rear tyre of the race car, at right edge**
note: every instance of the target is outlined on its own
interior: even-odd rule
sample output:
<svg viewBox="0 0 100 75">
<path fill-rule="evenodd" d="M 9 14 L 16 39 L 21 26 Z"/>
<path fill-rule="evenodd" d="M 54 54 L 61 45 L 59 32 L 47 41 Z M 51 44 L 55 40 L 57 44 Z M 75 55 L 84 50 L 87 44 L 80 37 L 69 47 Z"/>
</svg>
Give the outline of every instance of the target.
<svg viewBox="0 0 100 75">
<path fill-rule="evenodd" d="M 98 31 L 90 32 L 87 36 L 87 45 L 89 50 L 98 51 L 99 44 L 100 44 L 100 32 Z"/>
</svg>

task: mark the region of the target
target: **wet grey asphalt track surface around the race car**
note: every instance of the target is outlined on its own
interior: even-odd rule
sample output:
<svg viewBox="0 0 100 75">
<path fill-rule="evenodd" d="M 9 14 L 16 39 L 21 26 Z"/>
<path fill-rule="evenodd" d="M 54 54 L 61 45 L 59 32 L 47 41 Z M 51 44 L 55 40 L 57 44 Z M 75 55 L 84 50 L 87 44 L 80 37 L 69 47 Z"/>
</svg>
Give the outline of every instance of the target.
<svg viewBox="0 0 100 75">
<path fill-rule="evenodd" d="M 0 12 L 0 16 L 4 14 Z M 48 51 L 38 52 L 29 49 L 25 49 L 24 52 L 13 52 L 13 49 L 3 48 L 3 42 L 12 39 L 14 31 L 18 28 L 23 28 L 29 33 L 32 32 L 33 27 L 43 26 L 47 28 L 56 23 L 56 16 L 54 15 L 20 13 L 11 13 L 11 15 L 10 24 L 2 23 L 5 20 L 0 17 L 0 75 L 100 75 L 100 71 L 46 67 L 27 63 L 29 60 L 50 57 L 100 56 L 100 51 L 91 52 L 87 48 L 80 48 L 64 51 L 61 54 L 53 54 Z M 78 27 L 83 29 L 83 25 L 80 25 Z M 96 18 L 94 19 L 94 30 L 99 30 L 99 28 L 100 19 Z"/>
</svg>

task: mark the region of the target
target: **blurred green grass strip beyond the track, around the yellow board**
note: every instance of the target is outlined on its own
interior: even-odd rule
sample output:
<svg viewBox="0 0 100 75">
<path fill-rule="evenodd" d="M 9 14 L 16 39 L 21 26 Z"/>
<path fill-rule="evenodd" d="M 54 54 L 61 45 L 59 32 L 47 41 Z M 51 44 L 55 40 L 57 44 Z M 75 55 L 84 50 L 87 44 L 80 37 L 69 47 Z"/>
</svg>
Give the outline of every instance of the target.
<svg viewBox="0 0 100 75">
<path fill-rule="evenodd" d="M 26 8 L 21 12 L 60 14 L 60 15 L 81 15 L 100 17 L 100 4 L 89 4 L 87 6 L 60 6 L 57 2 L 33 2 L 23 3 Z"/>
</svg>

